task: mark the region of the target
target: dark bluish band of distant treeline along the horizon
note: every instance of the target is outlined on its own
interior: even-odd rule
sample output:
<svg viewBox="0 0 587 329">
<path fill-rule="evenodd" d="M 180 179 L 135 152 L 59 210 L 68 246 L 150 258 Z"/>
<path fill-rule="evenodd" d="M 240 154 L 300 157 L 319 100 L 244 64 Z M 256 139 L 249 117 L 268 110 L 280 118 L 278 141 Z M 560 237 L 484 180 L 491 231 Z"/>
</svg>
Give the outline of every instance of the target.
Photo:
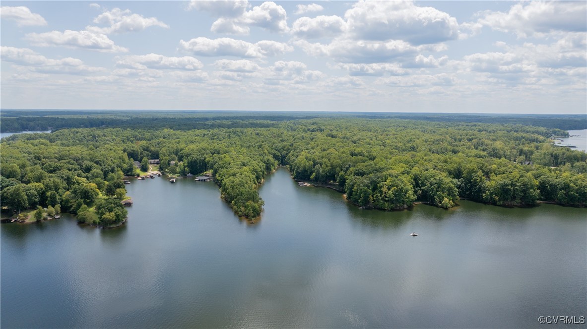
<svg viewBox="0 0 587 329">
<path fill-rule="evenodd" d="M 448 123 L 521 124 L 561 130 L 587 128 L 585 115 L 455 114 L 455 113 L 332 113 L 261 111 L 49 111 L 3 110 L 0 131 L 45 131 L 63 128 L 134 128 L 192 130 L 268 128 L 280 121 L 312 118 L 396 118 Z"/>
</svg>

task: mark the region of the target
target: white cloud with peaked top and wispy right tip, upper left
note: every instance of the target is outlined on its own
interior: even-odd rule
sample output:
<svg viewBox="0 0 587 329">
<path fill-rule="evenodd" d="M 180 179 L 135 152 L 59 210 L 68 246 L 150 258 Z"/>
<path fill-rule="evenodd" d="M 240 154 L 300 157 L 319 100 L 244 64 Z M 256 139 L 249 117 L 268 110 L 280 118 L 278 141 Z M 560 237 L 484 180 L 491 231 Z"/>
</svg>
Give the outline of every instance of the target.
<svg viewBox="0 0 587 329">
<path fill-rule="evenodd" d="M 120 8 L 104 11 L 94 19 L 94 23 L 109 25 L 107 28 L 86 26 L 86 29 L 90 32 L 103 34 L 137 32 L 150 26 L 169 28 L 166 23 L 159 21 L 157 18 L 145 18 L 137 13 L 131 13 L 129 9 L 123 11 Z"/>
</svg>

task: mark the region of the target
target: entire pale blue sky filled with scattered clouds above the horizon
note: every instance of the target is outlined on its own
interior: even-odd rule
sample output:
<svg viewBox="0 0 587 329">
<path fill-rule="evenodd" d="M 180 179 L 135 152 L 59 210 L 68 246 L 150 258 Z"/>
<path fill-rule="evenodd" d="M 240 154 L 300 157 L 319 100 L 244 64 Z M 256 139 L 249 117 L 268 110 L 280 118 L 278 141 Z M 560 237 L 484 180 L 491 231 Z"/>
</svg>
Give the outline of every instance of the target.
<svg viewBox="0 0 587 329">
<path fill-rule="evenodd" d="M 1 108 L 585 114 L 587 2 L 1 2 Z"/>
</svg>

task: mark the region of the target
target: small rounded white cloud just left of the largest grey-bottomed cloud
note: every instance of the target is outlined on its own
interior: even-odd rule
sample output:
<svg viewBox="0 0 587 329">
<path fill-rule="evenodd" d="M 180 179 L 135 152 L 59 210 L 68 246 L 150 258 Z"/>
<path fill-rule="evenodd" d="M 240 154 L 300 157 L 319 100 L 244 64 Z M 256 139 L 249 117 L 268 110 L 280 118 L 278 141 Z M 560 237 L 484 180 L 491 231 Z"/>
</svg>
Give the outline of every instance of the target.
<svg viewBox="0 0 587 329">
<path fill-rule="evenodd" d="M 291 32 L 298 38 L 317 39 L 338 36 L 346 29 L 346 22 L 339 16 L 301 17 L 292 25 Z"/>
</svg>

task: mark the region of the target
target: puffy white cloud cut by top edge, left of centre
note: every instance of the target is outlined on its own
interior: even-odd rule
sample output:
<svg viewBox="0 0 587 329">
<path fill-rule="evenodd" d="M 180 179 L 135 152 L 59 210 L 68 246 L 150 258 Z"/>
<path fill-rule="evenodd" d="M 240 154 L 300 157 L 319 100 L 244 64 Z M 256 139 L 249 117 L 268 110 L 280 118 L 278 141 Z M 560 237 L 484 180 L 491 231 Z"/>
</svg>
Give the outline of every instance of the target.
<svg viewBox="0 0 587 329">
<path fill-rule="evenodd" d="M 248 1 L 193 1 L 188 6 L 207 11 L 218 17 L 210 30 L 215 33 L 248 35 L 251 26 L 257 26 L 271 32 L 287 32 L 287 13 L 285 9 L 272 1 L 263 2 L 251 10 Z"/>
</svg>

